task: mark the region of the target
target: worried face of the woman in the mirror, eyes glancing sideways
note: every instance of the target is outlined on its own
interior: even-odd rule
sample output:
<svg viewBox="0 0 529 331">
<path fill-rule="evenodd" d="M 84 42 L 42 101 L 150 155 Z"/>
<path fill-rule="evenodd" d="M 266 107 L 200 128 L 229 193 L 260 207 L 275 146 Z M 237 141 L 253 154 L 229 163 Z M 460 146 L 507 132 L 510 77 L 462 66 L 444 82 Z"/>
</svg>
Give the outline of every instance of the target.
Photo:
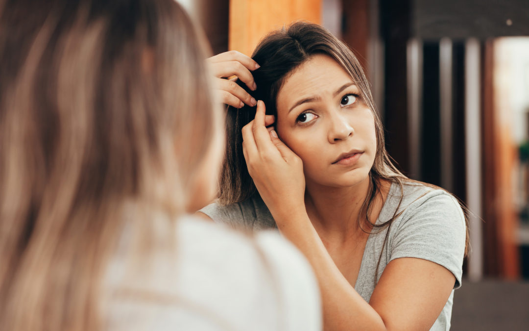
<svg viewBox="0 0 529 331">
<path fill-rule="evenodd" d="M 354 186 L 377 150 L 375 119 L 349 74 L 314 55 L 287 76 L 277 95 L 279 137 L 302 160 L 307 184 Z"/>
</svg>

